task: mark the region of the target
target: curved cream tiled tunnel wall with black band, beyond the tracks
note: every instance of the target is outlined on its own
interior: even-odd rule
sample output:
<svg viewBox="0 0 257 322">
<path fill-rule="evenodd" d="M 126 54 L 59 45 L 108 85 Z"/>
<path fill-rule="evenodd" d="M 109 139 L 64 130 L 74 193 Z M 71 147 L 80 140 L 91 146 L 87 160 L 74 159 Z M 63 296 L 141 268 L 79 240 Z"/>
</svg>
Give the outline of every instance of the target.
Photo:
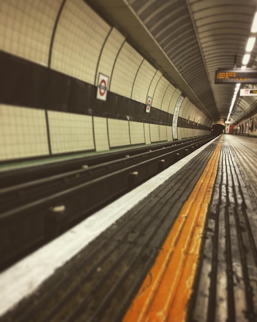
<svg viewBox="0 0 257 322">
<path fill-rule="evenodd" d="M 1 0 L 0 55 L 2 162 L 210 134 L 187 97 L 172 124 L 182 93 L 83 0 Z M 100 102 L 99 73 L 109 78 Z"/>
</svg>

